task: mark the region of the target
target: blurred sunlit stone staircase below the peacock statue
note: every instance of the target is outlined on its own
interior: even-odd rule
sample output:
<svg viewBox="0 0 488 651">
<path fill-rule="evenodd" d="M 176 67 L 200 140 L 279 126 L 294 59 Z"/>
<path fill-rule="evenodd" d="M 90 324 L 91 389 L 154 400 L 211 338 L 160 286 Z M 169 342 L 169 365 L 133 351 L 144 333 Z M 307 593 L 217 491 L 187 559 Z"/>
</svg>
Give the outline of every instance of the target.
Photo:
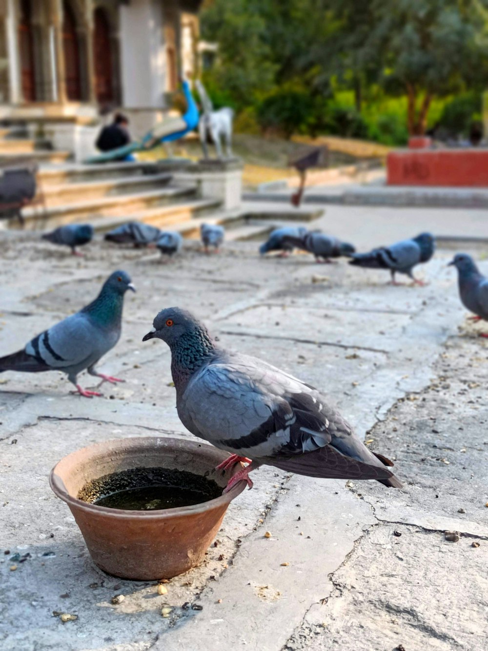
<svg viewBox="0 0 488 651">
<path fill-rule="evenodd" d="M 260 215 L 224 210 L 218 199 L 202 197 L 198 183 L 188 174 L 178 179 L 176 169 L 170 166 L 142 161 L 59 164 L 68 158 L 68 152 L 57 152 L 49 148 L 49 142 L 21 135 L 18 130 L 0 132 L 0 161 L 36 159 L 40 165 L 38 201 L 22 211 L 25 229 L 49 230 L 66 223 L 89 222 L 97 232 L 105 232 L 137 220 L 198 238 L 200 225 L 208 222 L 224 225 L 227 239 L 232 241 L 264 238 L 275 223 L 308 221 L 316 216 L 296 210 L 289 215 L 282 210 Z M 3 225 L 0 220 L 0 227 Z M 17 228 L 18 224 L 9 222 L 8 227 Z"/>
</svg>

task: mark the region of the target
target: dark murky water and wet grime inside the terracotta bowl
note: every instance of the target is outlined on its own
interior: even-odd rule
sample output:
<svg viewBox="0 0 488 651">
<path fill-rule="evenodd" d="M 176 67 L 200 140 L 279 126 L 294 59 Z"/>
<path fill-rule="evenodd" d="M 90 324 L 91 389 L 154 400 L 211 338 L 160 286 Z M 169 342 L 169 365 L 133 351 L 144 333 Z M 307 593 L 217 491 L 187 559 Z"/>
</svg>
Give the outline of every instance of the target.
<svg viewBox="0 0 488 651">
<path fill-rule="evenodd" d="M 98 506 L 148 511 L 200 504 L 221 494 L 214 481 L 201 475 L 167 468 L 131 468 L 88 482 L 77 497 Z"/>
</svg>

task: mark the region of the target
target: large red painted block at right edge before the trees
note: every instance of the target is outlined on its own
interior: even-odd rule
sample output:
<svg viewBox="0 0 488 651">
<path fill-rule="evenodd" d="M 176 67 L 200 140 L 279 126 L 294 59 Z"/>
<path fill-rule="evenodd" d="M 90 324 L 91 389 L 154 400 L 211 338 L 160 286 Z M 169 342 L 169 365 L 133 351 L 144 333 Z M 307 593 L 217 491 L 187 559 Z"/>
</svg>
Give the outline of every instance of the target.
<svg viewBox="0 0 488 651">
<path fill-rule="evenodd" d="M 390 152 L 388 186 L 488 187 L 488 149 Z"/>
</svg>

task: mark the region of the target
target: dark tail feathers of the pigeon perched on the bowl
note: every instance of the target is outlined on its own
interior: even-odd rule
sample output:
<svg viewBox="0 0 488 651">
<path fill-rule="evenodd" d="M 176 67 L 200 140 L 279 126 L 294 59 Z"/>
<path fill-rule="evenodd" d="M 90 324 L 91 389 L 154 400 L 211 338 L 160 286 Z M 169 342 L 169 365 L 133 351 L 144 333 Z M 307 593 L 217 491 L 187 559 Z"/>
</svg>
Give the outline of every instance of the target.
<svg viewBox="0 0 488 651">
<path fill-rule="evenodd" d="M 274 465 L 281 470 L 326 479 L 375 479 L 385 486 L 401 488 L 401 482 L 383 465 L 366 464 L 341 454 L 332 445 L 288 458 L 265 457 L 254 459 L 260 464 Z M 381 460 L 383 462 L 383 460 Z M 384 462 L 383 462 L 384 463 Z M 390 462 L 391 464 L 391 462 Z"/>
</svg>

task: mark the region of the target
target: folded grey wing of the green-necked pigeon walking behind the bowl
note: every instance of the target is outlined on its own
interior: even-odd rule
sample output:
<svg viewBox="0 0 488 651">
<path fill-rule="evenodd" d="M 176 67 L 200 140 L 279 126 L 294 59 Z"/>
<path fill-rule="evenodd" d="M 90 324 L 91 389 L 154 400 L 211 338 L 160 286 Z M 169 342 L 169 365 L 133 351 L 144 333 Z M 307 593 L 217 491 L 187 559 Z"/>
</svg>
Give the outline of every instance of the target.
<svg viewBox="0 0 488 651">
<path fill-rule="evenodd" d="M 106 352 L 104 344 L 99 329 L 87 315 L 77 312 L 34 337 L 25 352 L 49 368 L 68 370 L 96 361 Z"/>
</svg>

